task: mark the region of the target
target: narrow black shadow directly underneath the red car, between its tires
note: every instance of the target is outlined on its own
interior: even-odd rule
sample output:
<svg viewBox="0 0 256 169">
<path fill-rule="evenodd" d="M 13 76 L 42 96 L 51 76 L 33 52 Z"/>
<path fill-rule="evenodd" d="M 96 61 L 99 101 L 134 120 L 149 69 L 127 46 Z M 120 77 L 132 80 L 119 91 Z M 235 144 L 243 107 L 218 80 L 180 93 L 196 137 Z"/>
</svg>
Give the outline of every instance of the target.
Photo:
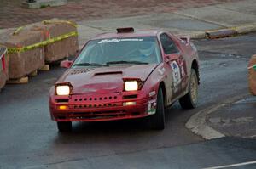
<svg viewBox="0 0 256 169">
<path fill-rule="evenodd" d="M 178 103 L 173 104 L 166 109 L 166 127 L 175 124 L 175 119 L 185 114 L 189 110 L 183 110 Z M 59 132 L 59 137 L 70 135 L 90 136 L 94 134 L 110 134 L 119 135 L 127 133 L 147 133 L 147 132 L 163 132 L 165 130 L 154 130 L 148 126 L 150 117 L 140 119 L 129 119 L 120 121 L 97 121 L 97 122 L 73 122 L 72 132 Z"/>
</svg>

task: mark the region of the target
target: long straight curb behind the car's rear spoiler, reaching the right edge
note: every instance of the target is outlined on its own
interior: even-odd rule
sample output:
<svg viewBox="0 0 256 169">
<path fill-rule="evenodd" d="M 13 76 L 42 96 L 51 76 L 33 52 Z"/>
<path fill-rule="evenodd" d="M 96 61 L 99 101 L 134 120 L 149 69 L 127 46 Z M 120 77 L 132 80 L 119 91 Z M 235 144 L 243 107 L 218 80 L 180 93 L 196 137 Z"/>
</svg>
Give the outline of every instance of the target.
<svg viewBox="0 0 256 169">
<path fill-rule="evenodd" d="M 198 32 L 189 35 L 193 39 L 216 39 L 222 37 L 233 37 L 236 35 L 247 34 L 256 31 L 256 23 L 248 24 L 248 25 L 238 25 L 235 27 L 224 28 L 224 29 L 217 29 L 205 32 Z"/>
</svg>

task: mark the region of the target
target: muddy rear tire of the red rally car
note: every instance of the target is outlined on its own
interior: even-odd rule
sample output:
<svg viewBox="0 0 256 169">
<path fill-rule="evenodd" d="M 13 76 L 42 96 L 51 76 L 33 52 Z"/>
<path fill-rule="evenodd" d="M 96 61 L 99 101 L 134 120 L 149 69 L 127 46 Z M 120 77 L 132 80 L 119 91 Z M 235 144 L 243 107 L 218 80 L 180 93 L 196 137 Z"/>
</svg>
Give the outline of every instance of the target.
<svg viewBox="0 0 256 169">
<path fill-rule="evenodd" d="M 179 99 L 179 104 L 183 109 L 194 109 L 197 105 L 198 98 L 198 78 L 195 70 L 191 69 L 190 82 L 189 82 L 189 93 Z"/>
</svg>

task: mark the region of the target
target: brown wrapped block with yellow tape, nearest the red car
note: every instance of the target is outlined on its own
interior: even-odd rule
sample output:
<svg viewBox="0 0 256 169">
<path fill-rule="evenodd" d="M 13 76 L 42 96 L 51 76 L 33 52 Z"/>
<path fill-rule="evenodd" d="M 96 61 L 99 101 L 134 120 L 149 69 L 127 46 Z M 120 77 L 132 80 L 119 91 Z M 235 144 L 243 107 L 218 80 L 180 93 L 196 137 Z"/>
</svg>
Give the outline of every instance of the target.
<svg viewBox="0 0 256 169">
<path fill-rule="evenodd" d="M 44 46 L 45 62 L 51 63 L 76 54 L 79 50 L 77 25 L 70 20 L 44 20 L 32 24 L 32 31 L 42 31 L 49 40 Z"/>
</svg>

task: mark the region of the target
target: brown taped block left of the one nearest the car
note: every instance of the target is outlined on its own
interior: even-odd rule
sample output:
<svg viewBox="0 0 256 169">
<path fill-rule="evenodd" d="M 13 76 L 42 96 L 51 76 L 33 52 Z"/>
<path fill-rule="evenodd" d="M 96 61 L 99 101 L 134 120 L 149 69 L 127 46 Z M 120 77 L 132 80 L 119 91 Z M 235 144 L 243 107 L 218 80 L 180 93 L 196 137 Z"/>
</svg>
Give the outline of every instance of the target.
<svg viewBox="0 0 256 169">
<path fill-rule="evenodd" d="M 10 79 L 19 79 L 44 66 L 44 48 L 35 47 L 43 41 L 39 31 L 2 31 L 0 44 L 8 48 Z"/>
</svg>

